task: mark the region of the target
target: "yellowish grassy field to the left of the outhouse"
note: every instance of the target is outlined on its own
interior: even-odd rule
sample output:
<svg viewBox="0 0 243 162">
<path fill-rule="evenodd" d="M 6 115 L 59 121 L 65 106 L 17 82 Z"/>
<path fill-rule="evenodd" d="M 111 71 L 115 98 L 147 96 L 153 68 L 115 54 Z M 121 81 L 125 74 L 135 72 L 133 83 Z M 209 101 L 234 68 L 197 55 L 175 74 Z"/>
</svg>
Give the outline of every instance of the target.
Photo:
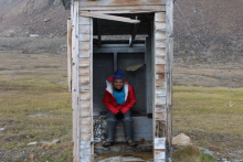
<svg viewBox="0 0 243 162">
<path fill-rule="evenodd" d="M 30 161 L 31 154 L 40 162 L 72 161 L 72 107 L 66 77 L 63 77 L 65 60 L 43 55 L 28 58 L 19 72 L 15 71 L 19 57 L 1 55 L 6 60 L 1 58 L 1 66 L 9 66 L 10 58 L 14 64 L 12 71 L 0 77 L 0 128 L 6 129 L 0 132 L 0 161 Z M 35 68 L 42 64 L 49 67 Z M 61 143 L 42 149 L 41 142 L 54 139 Z M 39 144 L 28 147 L 33 141 Z"/>
</svg>

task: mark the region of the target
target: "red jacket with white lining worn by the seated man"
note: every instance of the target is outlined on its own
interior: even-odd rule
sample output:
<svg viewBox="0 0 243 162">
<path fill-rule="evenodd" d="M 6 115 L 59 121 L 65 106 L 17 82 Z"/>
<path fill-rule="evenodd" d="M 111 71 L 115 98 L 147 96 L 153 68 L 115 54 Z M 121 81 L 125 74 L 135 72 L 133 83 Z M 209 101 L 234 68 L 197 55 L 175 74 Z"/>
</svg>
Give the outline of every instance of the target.
<svg viewBox="0 0 243 162">
<path fill-rule="evenodd" d="M 107 87 L 104 94 L 103 104 L 106 106 L 108 110 L 113 114 L 118 114 L 122 111 L 125 114 L 128 111 L 136 102 L 136 96 L 134 91 L 134 87 L 129 86 L 128 83 L 125 80 L 124 88 L 125 88 L 125 102 L 123 105 L 117 105 L 116 99 L 113 96 L 113 76 L 108 77 L 106 80 Z"/>
</svg>

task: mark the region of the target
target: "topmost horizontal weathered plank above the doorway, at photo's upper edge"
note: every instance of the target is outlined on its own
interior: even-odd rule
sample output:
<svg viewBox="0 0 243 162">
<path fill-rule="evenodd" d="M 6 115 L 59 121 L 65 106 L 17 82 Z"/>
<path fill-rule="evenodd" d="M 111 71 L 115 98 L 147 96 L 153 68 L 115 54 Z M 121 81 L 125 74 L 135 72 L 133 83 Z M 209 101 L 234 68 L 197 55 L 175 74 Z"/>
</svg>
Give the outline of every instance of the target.
<svg viewBox="0 0 243 162">
<path fill-rule="evenodd" d="M 82 7 L 165 6 L 166 0 L 80 0 Z"/>
</svg>

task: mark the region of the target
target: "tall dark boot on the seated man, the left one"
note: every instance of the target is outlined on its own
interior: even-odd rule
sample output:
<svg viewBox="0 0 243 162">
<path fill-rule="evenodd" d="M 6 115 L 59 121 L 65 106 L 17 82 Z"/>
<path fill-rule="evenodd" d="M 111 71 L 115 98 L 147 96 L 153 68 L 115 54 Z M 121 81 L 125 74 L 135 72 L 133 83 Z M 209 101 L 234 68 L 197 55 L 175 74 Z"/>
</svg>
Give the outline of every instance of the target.
<svg viewBox="0 0 243 162">
<path fill-rule="evenodd" d="M 106 121 L 106 139 L 103 141 L 103 147 L 110 147 L 115 141 L 116 121 Z"/>
</svg>

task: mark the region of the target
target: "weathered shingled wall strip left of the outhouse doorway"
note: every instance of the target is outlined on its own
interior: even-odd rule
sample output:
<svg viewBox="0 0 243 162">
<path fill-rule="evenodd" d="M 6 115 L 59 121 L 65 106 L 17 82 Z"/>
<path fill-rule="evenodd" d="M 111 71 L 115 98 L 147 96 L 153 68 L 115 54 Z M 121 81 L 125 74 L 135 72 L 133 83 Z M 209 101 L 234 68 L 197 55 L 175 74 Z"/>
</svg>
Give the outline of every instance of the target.
<svg viewBox="0 0 243 162">
<path fill-rule="evenodd" d="M 93 20 L 78 20 L 78 78 L 80 78 L 80 161 L 93 159 Z"/>
</svg>

